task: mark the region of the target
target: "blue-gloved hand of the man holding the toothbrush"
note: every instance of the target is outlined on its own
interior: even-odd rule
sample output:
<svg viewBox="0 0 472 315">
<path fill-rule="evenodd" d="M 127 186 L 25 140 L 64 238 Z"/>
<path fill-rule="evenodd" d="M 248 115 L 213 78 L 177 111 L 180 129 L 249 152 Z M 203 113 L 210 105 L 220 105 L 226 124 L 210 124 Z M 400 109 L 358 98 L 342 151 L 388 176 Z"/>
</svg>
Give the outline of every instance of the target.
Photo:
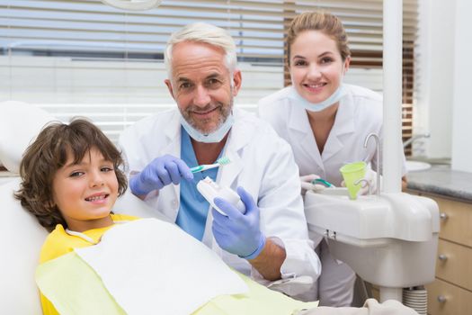
<svg viewBox="0 0 472 315">
<path fill-rule="evenodd" d="M 182 178 L 192 180 L 189 166 L 178 157 L 156 157 L 140 173 L 129 178 L 129 188 L 137 195 L 146 195 L 167 184 L 179 184 Z"/>
</svg>

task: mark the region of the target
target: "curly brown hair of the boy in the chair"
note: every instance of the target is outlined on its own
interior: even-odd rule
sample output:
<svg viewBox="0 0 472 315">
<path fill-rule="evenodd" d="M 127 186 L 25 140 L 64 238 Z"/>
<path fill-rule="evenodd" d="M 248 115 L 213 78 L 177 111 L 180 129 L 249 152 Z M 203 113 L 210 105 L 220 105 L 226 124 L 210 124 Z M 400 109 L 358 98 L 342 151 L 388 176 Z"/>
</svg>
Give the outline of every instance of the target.
<svg viewBox="0 0 472 315">
<path fill-rule="evenodd" d="M 65 166 L 67 154 L 72 154 L 74 163 L 79 163 L 91 148 L 98 149 L 106 160 L 113 163 L 120 196 L 128 188 L 126 175 L 120 170 L 123 165 L 120 151 L 90 121 L 52 122 L 40 131 L 38 138 L 24 152 L 20 165 L 22 184 L 14 196 L 49 231 L 57 224 L 67 228 L 67 222 L 53 199 L 52 182 L 56 172 Z"/>
</svg>

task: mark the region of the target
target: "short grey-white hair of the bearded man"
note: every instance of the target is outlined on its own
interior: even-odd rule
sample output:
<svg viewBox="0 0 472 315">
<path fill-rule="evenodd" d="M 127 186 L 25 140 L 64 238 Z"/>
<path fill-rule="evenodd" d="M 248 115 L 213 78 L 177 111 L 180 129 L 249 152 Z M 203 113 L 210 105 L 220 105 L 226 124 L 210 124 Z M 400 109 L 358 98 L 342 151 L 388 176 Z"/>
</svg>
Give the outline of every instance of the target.
<svg viewBox="0 0 472 315">
<path fill-rule="evenodd" d="M 167 41 L 164 51 L 165 68 L 169 78 L 172 77 L 172 49 L 175 44 L 183 41 L 203 42 L 219 47 L 225 51 L 225 63 L 229 73 L 236 69 L 236 44 L 229 33 L 209 23 L 191 23 L 179 31 L 175 31 Z"/>
</svg>

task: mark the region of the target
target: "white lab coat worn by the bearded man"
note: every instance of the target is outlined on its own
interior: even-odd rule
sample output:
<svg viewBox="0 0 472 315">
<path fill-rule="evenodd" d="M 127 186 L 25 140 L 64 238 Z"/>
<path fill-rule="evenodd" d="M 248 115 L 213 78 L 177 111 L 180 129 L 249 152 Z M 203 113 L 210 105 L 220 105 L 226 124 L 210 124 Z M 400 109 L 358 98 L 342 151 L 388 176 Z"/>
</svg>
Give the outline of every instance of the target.
<svg viewBox="0 0 472 315">
<path fill-rule="evenodd" d="M 225 152 L 231 163 L 219 167 L 217 182 L 236 190 L 243 186 L 261 210 L 261 229 L 285 247 L 287 257 L 281 266 L 282 277 L 309 275 L 316 280 L 321 263 L 307 236 L 307 221 L 299 195 L 298 167 L 289 144 L 253 114 L 234 111 Z M 181 123 L 177 110 L 160 112 L 136 122 L 120 136 L 120 147 L 129 171 L 140 171 L 156 157 L 181 156 Z M 151 193 L 152 194 L 152 193 Z M 179 210 L 180 185 L 169 184 L 146 201 L 165 217 L 175 221 Z M 263 282 L 260 275 L 242 258 L 223 251 L 211 231 L 209 211 L 202 241 L 223 257 L 229 266 Z"/>
</svg>

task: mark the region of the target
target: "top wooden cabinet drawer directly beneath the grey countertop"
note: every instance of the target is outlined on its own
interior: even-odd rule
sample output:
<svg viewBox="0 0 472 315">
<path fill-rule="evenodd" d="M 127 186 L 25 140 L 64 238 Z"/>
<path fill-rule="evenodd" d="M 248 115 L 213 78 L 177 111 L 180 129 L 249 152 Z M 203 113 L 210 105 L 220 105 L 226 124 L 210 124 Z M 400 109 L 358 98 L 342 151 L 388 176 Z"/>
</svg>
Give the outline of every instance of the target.
<svg viewBox="0 0 472 315">
<path fill-rule="evenodd" d="M 472 203 L 456 202 L 441 197 L 431 197 L 438 202 L 441 219 L 440 238 L 472 247 Z"/>
</svg>

